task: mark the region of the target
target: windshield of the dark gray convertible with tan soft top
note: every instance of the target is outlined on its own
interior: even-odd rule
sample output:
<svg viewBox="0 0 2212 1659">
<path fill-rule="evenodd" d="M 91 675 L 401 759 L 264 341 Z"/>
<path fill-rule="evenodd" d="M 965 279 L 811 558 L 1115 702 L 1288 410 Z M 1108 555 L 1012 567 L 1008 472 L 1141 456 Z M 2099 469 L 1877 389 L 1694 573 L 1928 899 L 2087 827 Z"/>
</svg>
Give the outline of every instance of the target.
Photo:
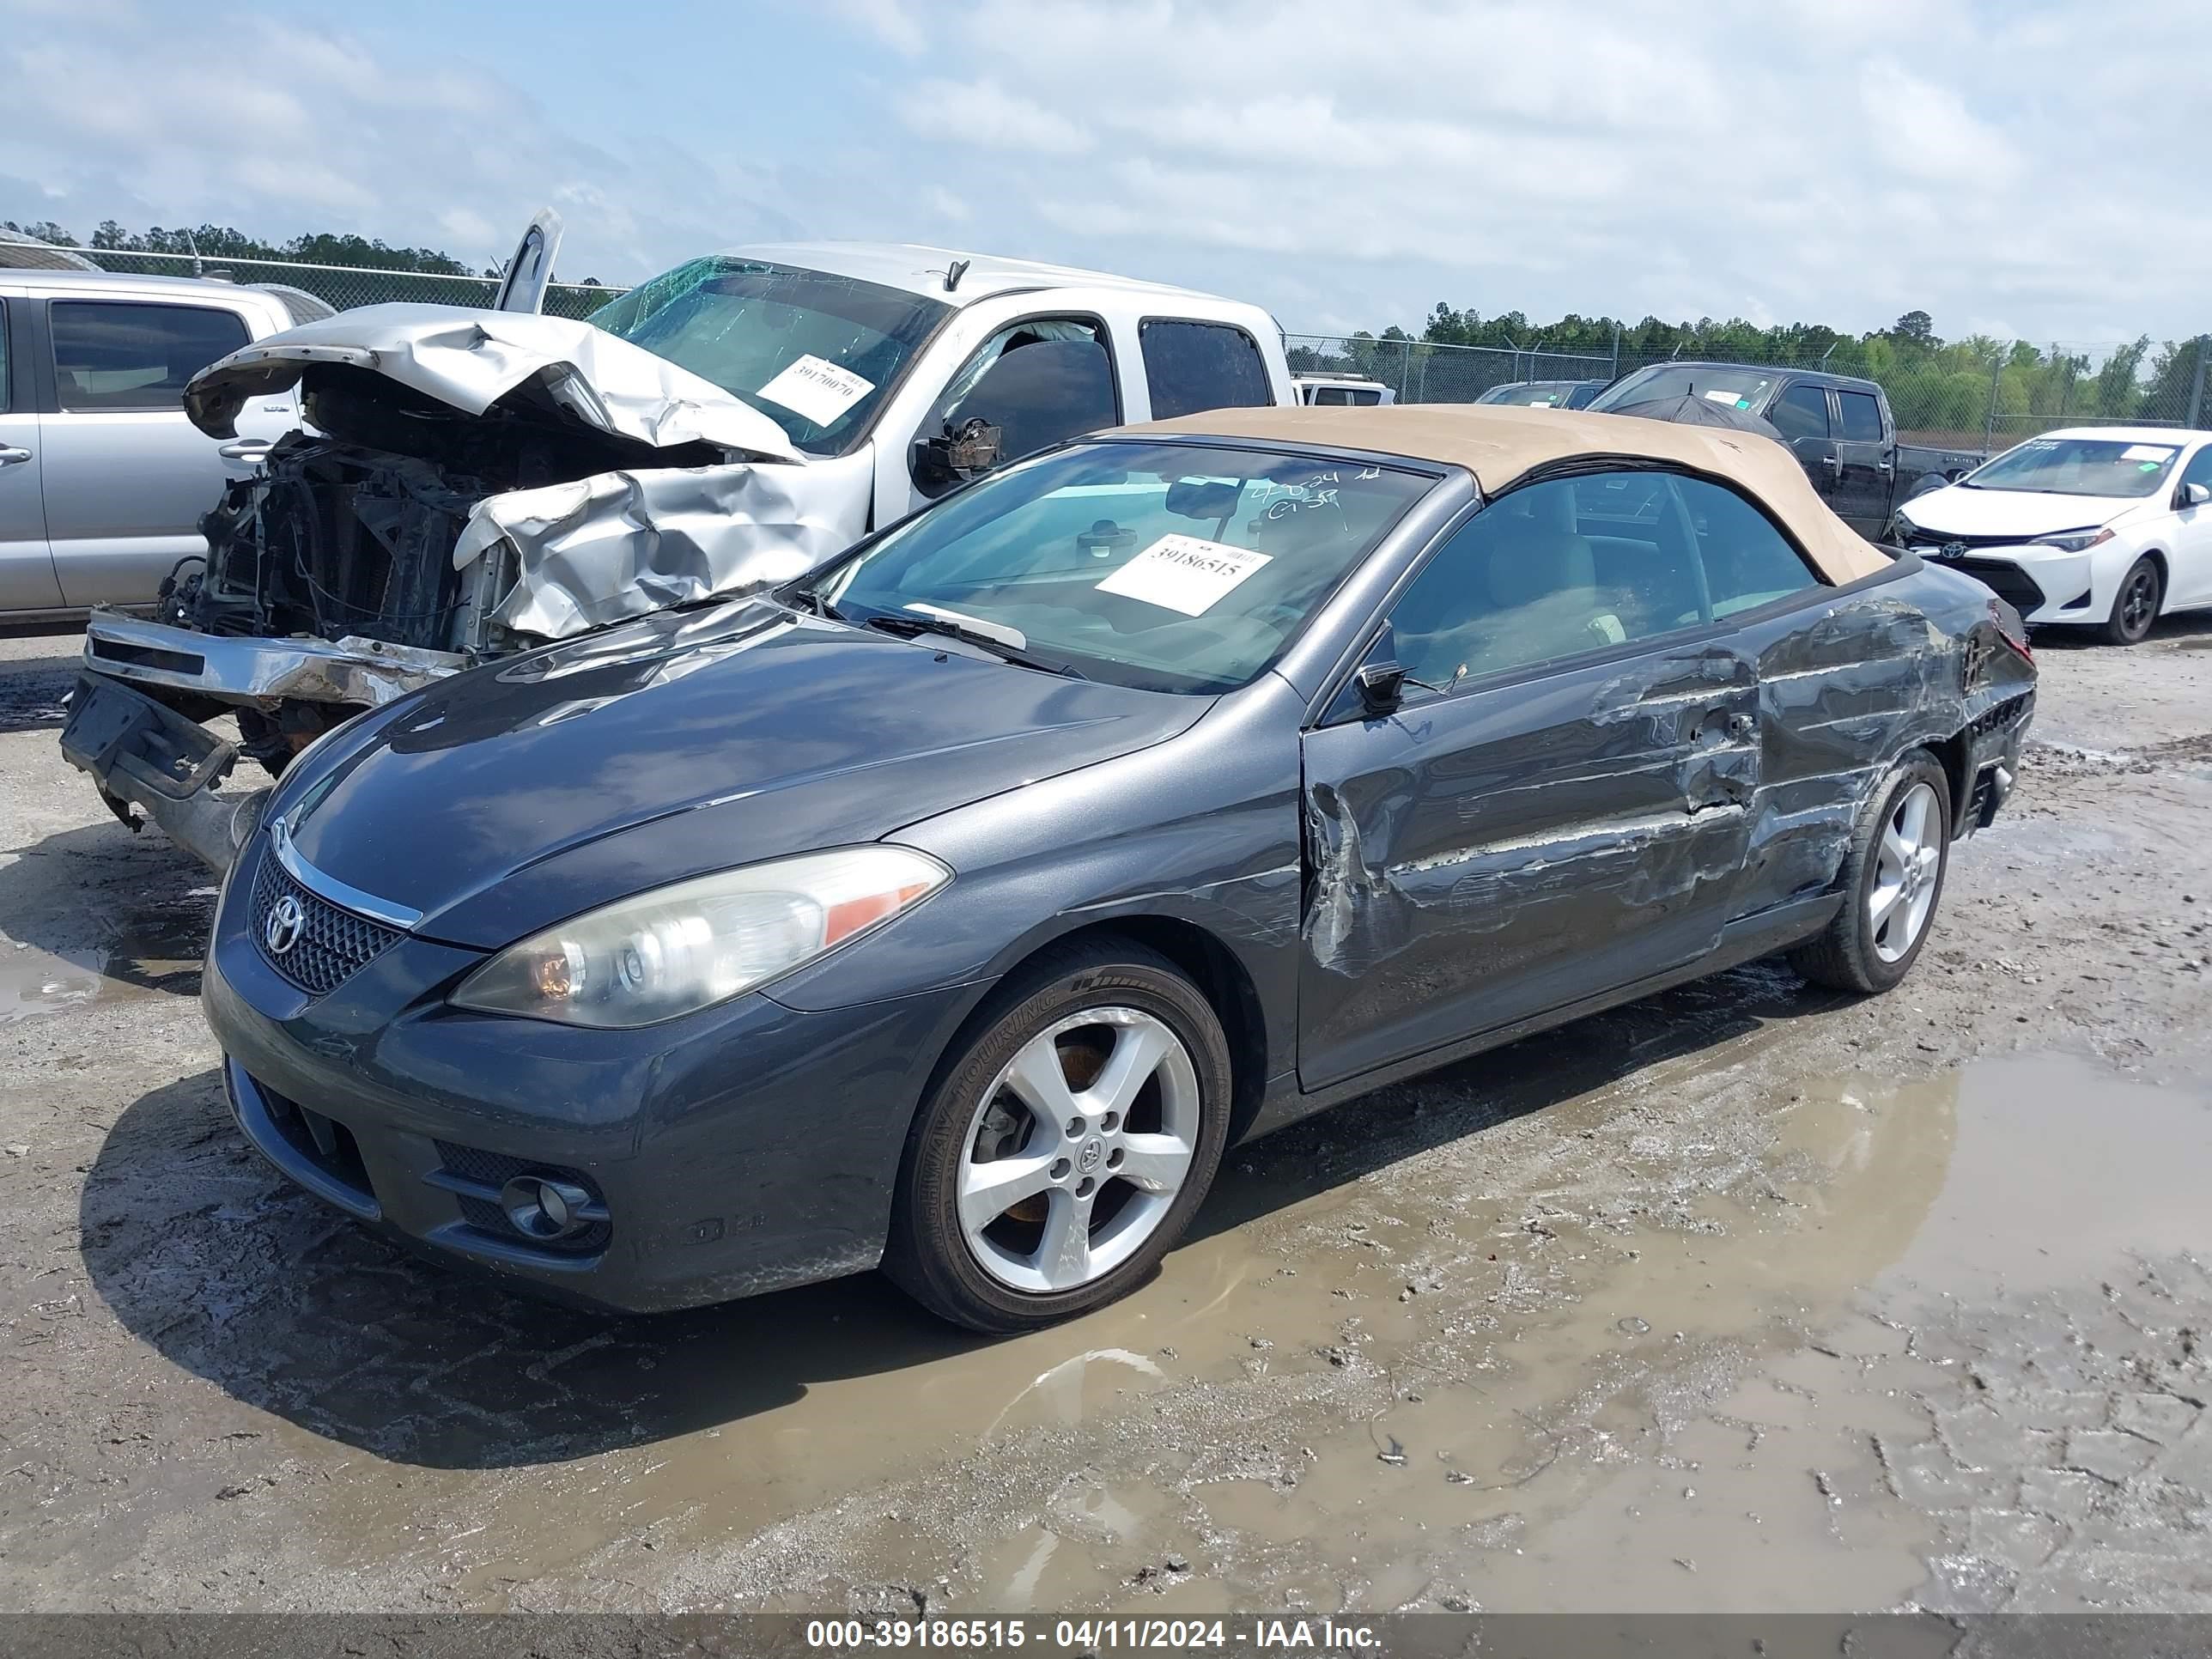
<svg viewBox="0 0 2212 1659">
<path fill-rule="evenodd" d="M 980 624 L 1086 679 L 1248 684 L 1433 478 L 1197 445 L 1091 442 L 967 489 L 792 593 L 847 622 Z"/>
</svg>

